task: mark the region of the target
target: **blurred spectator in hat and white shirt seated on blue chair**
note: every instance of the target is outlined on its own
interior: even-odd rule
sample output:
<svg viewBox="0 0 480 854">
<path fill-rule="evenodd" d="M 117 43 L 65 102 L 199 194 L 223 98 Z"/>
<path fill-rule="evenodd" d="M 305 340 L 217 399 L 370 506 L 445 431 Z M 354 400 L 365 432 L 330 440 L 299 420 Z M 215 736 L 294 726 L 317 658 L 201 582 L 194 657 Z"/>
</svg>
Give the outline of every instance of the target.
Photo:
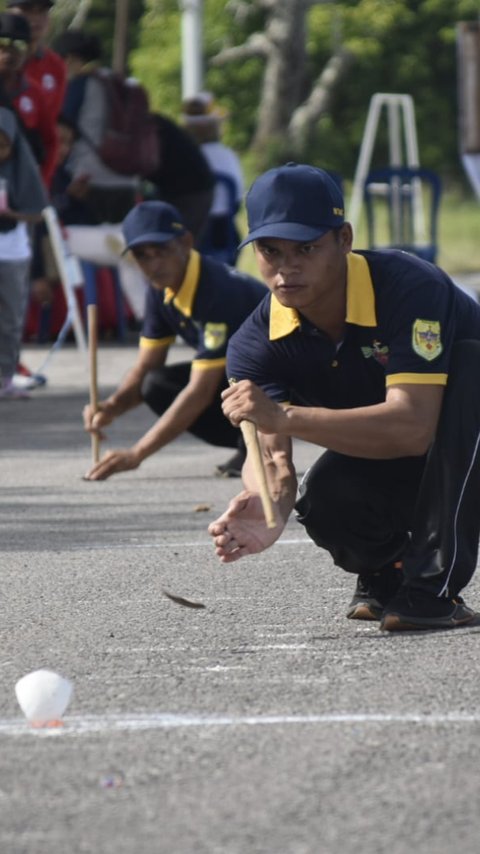
<svg viewBox="0 0 480 854">
<path fill-rule="evenodd" d="M 218 182 L 210 209 L 208 232 L 204 235 L 205 242 L 213 249 L 226 249 L 240 242 L 238 233 L 236 240 L 231 239 L 230 229 L 233 225 L 236 231 L 233 217 L 240 207 L 244 186 L 238 155 L 221 141 L 222 123 L 226 115 L 215 106 L 210 92 L 200 92 L 193 98 L 187 98 L 182 104 L 182 113 L 186 129 L 200 146 L 214 176 L 216 173 L 224 174 L 233 181 L 233 209 L 227 188 Z M 235 257 L 232 261 L 235 261 Z"/>
</svg>

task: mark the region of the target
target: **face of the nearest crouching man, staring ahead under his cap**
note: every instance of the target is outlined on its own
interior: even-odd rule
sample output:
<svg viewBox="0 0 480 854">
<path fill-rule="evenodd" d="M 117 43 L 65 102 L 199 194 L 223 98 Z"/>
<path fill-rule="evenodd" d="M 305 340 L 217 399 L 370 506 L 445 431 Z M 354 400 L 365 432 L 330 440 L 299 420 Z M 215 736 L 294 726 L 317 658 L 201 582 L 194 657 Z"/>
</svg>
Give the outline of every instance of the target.
<svg viewBox="0 0 480 854">
<path fill-rule="evenodd" d="M 328 231 L 311 243 L 279 238 L 255 241 L 262 278 L 278 301 L 298 311 L 317 308 L 345 285 L 345 255 L 351 249 L 350 227 Z"/>
</svg>

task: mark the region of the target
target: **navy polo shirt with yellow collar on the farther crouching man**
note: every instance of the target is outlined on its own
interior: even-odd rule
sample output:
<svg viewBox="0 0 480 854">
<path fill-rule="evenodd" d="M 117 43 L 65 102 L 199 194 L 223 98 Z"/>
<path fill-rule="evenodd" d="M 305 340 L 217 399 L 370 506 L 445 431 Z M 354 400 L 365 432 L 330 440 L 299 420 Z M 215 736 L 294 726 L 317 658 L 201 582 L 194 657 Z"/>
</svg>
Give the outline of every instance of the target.
<svg viewBox="0 0 480 854">
<path fill-rule="evenodd" d="M 177 293 L 149 286 L 140 347 L 168 347 L 179 335 L 195 350 L 192 366 L 221 367 L 230 336 L 266 292 L 257 279 L 192 250 Z"/>
</svg>

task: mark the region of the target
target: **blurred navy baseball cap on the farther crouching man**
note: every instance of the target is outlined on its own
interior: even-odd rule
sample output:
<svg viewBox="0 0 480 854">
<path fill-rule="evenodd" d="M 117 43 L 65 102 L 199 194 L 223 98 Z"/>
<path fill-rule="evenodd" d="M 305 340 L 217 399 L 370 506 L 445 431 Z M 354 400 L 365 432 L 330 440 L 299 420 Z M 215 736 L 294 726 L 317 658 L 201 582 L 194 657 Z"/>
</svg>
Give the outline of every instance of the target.
<svg viewBox="0 0 480 854">
<path fill-rule="evenodd" d="M 185 223 L 173 205 L 166 202 L 140 202 L 122 222 L 125 252 L 140 243 L 166 243 L 186 232 Z"/>
</svg>

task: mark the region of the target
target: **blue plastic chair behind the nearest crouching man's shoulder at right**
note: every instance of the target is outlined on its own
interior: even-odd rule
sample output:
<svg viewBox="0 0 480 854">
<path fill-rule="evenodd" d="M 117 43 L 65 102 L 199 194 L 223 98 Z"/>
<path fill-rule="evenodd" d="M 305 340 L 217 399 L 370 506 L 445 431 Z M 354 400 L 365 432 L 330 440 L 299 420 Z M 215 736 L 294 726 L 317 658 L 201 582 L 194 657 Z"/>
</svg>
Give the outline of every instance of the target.
<svg viewBox="0 0 480 854">
<path fill-rule="evenodd" d="M 426 213 L 426 242 L 416 235 L 416 203 Z M 438 213 L 442 193 L 441 181 L 431 169 L 420 166 L 389 166 L 370 172 L 364 184 L 368 244 L 371 249 L 403 249 L 426 261 L 436 263 L 438 254 Z M 379 239 L 379 231 L 387 235 Z"/>
</svg>

